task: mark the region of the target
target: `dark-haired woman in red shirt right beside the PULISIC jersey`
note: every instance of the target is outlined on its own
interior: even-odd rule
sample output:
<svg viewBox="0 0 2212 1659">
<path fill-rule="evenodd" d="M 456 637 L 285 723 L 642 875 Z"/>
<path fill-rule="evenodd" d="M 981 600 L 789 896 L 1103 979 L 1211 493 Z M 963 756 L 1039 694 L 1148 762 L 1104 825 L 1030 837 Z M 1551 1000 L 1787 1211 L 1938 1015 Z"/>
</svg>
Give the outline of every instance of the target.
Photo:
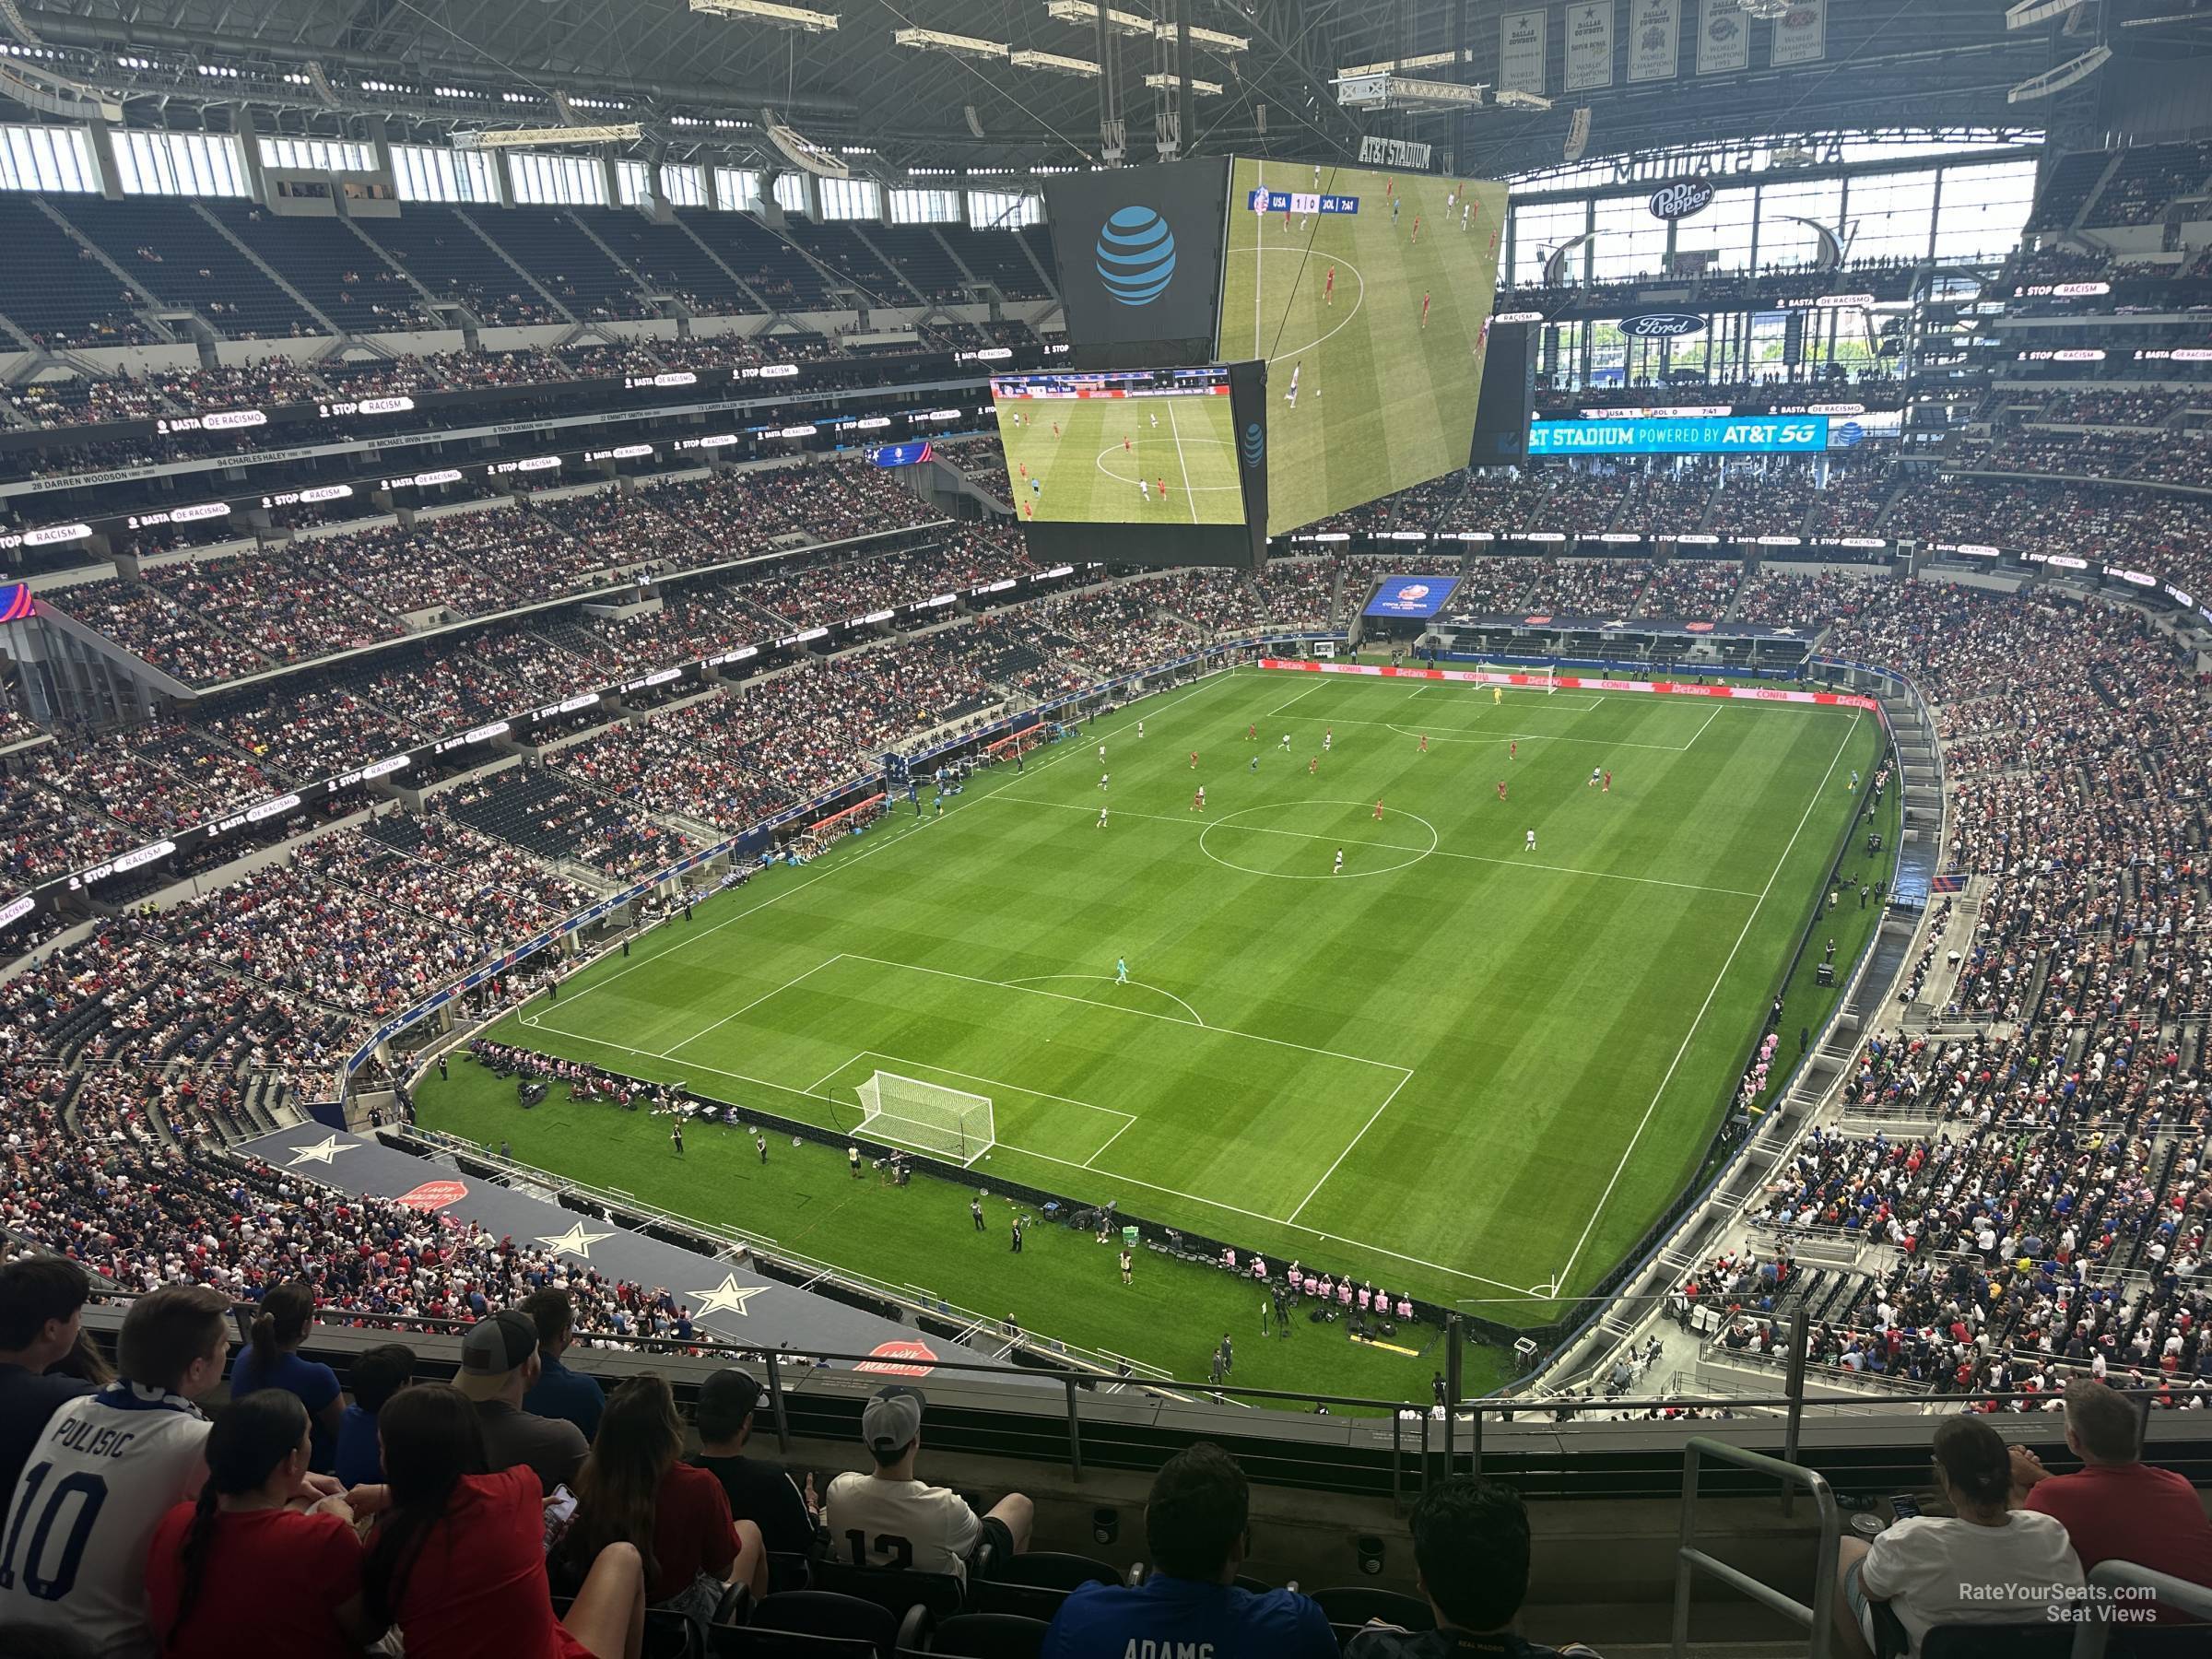
<svg viewBox="0 0 2212 1659">
<path fill-rule="evenodd" d="M 288 1659 L 347 1659 L 361 1615 L 361 1540 L 343 1498 L 290 1509 L 307 1475 L 307 1407 L 261 1389 L 208 1431 L 208 1480 L 146 1548 L 146 1608 L 164 1659 L 234 1659 L 239 1630 Z"/>
</svg>

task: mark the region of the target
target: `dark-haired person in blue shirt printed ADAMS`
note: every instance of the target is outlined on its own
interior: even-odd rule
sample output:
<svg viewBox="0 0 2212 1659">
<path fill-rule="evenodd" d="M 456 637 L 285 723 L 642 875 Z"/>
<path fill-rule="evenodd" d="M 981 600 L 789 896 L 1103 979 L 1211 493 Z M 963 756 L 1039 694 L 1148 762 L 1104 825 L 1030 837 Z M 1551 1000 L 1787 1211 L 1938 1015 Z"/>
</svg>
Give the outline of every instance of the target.
<svg viewBox="0 0 2212 1659">
<path fill-rule="evenodd" d="M 1243 1471 L 1221 1447 L 1179 1451 L 1144 1504 L 1152 1577 L 1068 1595 L 1042 1659 L 1336 1659 L 1336 1632 L 1310 1597 L 1237 1588 L 1250 1506 Z"/>
</svg>

